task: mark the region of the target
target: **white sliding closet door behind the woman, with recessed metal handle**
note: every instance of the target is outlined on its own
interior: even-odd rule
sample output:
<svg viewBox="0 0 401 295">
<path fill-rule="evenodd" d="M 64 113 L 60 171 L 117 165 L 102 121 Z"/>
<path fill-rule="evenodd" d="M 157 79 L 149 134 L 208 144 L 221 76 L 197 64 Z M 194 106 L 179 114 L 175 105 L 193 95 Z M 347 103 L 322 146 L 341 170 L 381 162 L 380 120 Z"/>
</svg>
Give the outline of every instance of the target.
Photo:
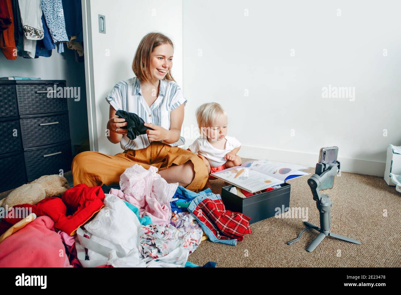
<svg viewBox="0 0 401 295">
<path fill-rule="evenodd" d="M 182 85 L 182 0 L 82 0 L 82 11 L 91 151 L 115 155 L 122 149 L 105 136 L 105 97 L 115 83 L 134 76 L 132 60 L 144 35 L 158 31 L 172 39 L 172 73 Z M 99 15 L 105 33 L 99 33 Z"/>
</svg>

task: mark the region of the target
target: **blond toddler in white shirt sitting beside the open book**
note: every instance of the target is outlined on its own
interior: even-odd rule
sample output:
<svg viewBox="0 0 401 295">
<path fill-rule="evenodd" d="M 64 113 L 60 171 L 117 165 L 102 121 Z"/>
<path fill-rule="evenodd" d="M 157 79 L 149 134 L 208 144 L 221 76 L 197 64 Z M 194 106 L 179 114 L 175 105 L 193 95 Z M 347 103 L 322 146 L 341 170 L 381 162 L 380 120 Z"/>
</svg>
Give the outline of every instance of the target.
<svg viewBox="0 0 401 295">
<path fill-rule="evenodd" d="M 241 165 L 241 158 L 237 156 L 241 143 L 235 137 L 227 136 L 227 113 L 219 104 L 201 105 L 196 109 L 196 121 L 201 136 L 188 150 L 202 157 L 209 174 Z"/>
</svg>

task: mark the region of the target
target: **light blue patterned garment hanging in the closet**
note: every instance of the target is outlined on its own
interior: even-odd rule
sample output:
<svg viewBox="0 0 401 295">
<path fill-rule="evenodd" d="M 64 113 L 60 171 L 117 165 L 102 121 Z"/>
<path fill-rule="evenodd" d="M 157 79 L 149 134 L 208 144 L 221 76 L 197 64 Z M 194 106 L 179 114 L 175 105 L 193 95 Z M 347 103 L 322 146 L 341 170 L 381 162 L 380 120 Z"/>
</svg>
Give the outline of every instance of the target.
<svg viewBox="0 0 401 295">
<path fill-rule="evenodd" d="M 68 42 L 61 0 L 41 0 L 41 8 L 53 41 L 55 43 Z"/>
</svg>

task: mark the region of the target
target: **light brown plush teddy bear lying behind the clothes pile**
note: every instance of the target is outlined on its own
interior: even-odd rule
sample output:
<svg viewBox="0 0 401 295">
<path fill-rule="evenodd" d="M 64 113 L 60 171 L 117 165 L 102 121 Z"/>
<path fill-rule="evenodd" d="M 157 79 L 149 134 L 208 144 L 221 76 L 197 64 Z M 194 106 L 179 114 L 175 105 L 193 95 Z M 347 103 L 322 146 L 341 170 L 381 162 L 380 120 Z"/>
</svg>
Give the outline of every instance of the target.
<svg viewBox="0 0 401 295">
<path fill-rule="evenodd" d="M 43 175 L 31 183 L 14 189 L 7 197 L 0 200 L 0 206 L 11 208 L 14 205 L 32 204 L 52 196 L 61 197 L 70 186 L 65 177 L 58 174 Z"/>
</svg>

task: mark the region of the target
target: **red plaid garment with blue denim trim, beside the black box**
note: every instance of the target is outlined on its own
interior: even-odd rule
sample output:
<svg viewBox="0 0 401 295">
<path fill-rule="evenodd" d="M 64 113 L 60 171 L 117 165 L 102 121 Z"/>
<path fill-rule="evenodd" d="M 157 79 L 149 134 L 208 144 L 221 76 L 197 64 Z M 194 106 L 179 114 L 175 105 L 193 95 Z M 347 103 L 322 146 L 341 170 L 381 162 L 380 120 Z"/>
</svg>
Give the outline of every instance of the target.
<svg viewBox="0 0 401 295">
<path fill-rule="evenodd" d="M 188 210 L 200 221 L 202 228 L 207 226 L 218 240 L 242 241 L 245 234 L 251 234 L 249 227 L 251 218 L 242 213 L 225 210 L 219 194 L 208 193 L 207 196 L 199 196 L 196 199 L 199 203 L 194 208 L 195 200 L 192 201 L 192 206 L 190 205 Z"/>
</svg>

